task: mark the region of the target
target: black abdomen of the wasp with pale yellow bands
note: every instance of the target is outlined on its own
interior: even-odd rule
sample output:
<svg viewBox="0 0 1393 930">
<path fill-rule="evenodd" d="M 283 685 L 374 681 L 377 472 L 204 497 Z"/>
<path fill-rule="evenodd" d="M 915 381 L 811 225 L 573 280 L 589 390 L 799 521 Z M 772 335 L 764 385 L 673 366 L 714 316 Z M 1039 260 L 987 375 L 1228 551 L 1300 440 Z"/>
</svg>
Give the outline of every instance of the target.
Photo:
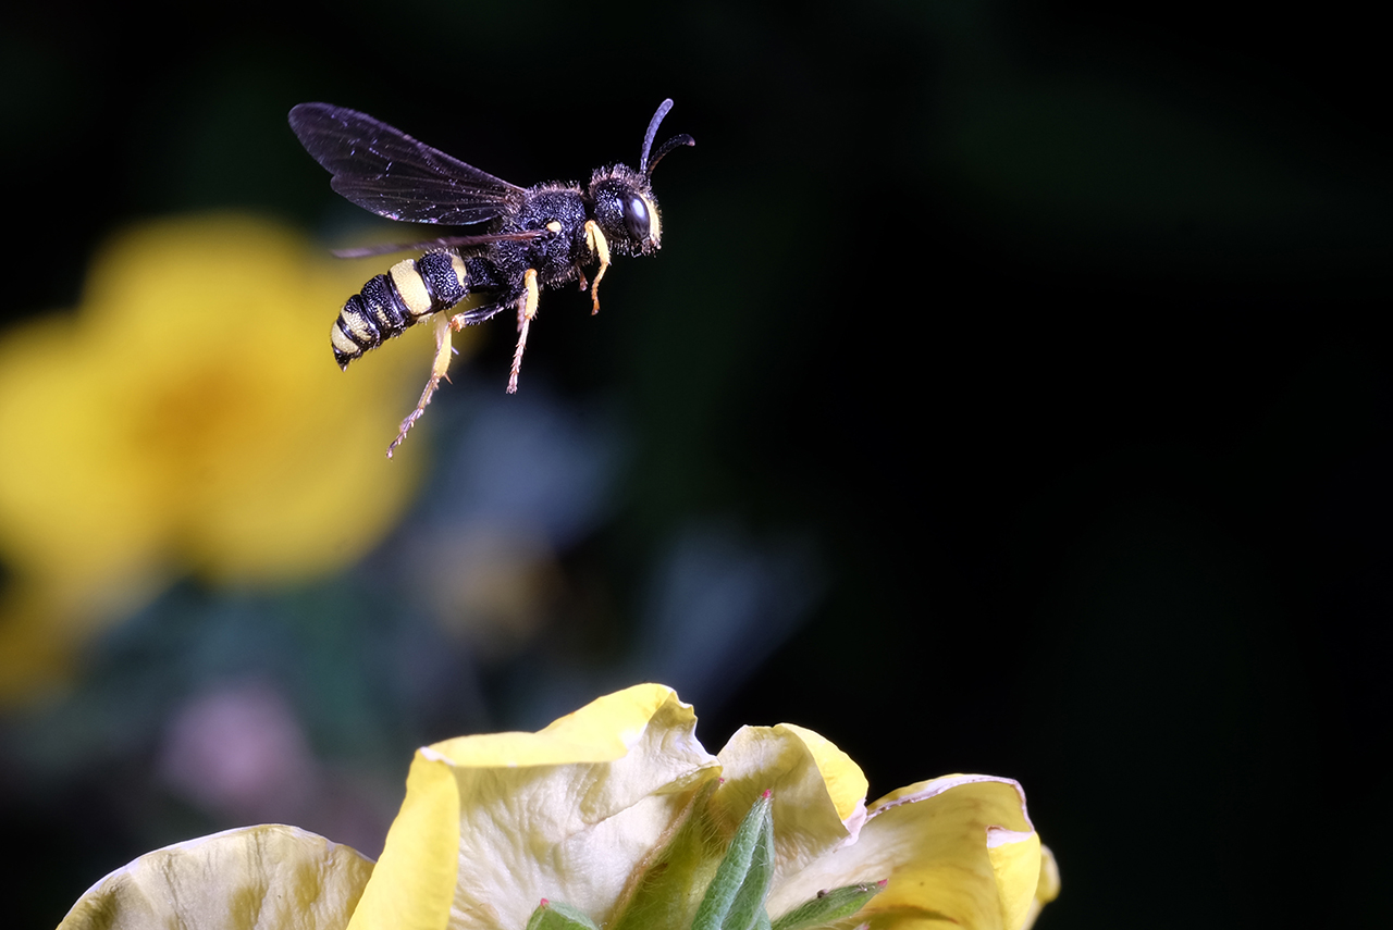
<svg viewBox="0 0 1393 930">
<path fill-rule="evenodd" d="M 464 259 L 451 252 L 428 252 L 405 259 L 362 285 L 338 310 L 329 330 L 338 368 L 348 368 L 371 348 L 401 336 L 418 320 L 454 306 L 469 292 Z"/>
</svg>

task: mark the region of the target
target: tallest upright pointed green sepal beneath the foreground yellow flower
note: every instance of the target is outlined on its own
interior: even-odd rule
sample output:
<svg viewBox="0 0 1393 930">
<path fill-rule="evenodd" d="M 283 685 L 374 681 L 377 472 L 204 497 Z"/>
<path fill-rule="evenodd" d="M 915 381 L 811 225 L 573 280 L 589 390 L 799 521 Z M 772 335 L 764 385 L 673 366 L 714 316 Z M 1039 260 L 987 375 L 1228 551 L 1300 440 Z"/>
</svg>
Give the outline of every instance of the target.
<svg viewBox="0 0 1393 930">
<path fill-rule="evenodd" d="M 773 801 L 766 791 L 736 827 L 691 930 L 752 930 L 775 874 Z"/>
</svg>

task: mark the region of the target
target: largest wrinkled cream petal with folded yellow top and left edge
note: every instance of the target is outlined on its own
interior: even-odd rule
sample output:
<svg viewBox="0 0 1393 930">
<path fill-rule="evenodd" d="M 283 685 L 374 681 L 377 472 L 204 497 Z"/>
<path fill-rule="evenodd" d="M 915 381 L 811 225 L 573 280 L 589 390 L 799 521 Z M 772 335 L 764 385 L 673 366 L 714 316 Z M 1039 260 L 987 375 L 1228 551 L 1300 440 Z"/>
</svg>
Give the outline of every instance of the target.
<svg viewBox="0 0 1393 930">
<path fill-rule="evenodd" d="M 515 930 L 542 898 L 606 924 L 719 773 L 695 724 L 670 688 L 637 685 L 535 734 L 418 750 L 352 930 Z"/>
</svg>

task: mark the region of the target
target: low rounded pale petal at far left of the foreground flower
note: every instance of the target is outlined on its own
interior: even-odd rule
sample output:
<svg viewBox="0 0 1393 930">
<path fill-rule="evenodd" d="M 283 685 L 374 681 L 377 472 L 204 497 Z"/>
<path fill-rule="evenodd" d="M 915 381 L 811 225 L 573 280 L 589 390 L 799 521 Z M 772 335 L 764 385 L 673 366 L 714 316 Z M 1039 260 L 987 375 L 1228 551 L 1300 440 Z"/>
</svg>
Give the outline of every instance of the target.
<svg viewBox="0 0 1393 930">
<path fill-rule="evenodd" d="M 228 830 L 117 869 L 59 930 L 340 930 L 372 860 L 297 827 Z"/>
</svg>

